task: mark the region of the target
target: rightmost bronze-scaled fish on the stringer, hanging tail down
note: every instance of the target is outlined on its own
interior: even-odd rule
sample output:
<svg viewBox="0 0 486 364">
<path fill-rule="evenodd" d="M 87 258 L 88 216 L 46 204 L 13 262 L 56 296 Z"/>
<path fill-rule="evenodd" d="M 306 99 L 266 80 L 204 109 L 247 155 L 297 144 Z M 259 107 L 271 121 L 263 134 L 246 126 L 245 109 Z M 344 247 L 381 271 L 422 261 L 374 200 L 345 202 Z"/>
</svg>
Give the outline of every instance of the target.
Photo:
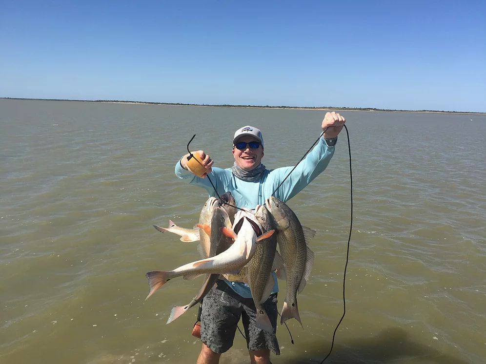
<svg viewBox="0 0 486 364">
<path fill-rule="evenodd" d="M 297 293 L 302 292 L 310 276 L 314 252 L 307 246 L 316 231 L 304 228 L 296 214 L 275 196 L 265 200 L 277 226 L 277 243 L 284 260 L 286 291 L 280 323 L 295 318 L 302 326 L 297 306 Z"/>
</svg>

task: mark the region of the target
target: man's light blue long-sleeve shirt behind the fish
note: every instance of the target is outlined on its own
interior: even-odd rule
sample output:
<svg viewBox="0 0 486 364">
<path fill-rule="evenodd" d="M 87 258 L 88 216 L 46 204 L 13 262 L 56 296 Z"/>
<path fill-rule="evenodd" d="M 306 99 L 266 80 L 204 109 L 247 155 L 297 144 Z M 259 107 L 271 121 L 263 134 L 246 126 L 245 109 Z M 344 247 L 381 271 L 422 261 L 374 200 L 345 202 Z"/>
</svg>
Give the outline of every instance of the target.
<svg viewBox="0 0 486 364">
<path fill-rule="evenodd" d="M 209 178 L 213 182 L 218 195 L 214 192 L 213 186 L 207 178 L 200 178 L 191 172 L 182 168 L 181 163 L 176 164 L 176 176 L 188 182 L 191 185 L 204 188 L 209 196 L 219 198 L 224 192 L 231 192 L 235 198 L 236 205 L 240 208 L 245 207 L 254 209 L 257 205 L 263 205 L 265 199 L 270 197 L 275 189 L 282 183 L 273 195 L 280 200 L 286 202 L 302 191 L 314 178 L 321 174 L 329 161 L 331 160 L 335 150 L 335 144 L 328 147 L 324 138 L 320 138 L 317 145 L 305 156 L 294 171 L 291 167 L 282 167 L 275 170 L 265 170 L 262 178 L 259 181 L 248 182 L 236 177 L 231 168 L 212 167 L 212 172 L 209 173 Z M 278 291 L 277 279 L 274 274 L 275 285 L 272 293 Z M 236 293 L 245 298 L 251 298 L 251 292 L 248 285 L 243 282 L 229 282 L 225 281 Z"/>
</svg>

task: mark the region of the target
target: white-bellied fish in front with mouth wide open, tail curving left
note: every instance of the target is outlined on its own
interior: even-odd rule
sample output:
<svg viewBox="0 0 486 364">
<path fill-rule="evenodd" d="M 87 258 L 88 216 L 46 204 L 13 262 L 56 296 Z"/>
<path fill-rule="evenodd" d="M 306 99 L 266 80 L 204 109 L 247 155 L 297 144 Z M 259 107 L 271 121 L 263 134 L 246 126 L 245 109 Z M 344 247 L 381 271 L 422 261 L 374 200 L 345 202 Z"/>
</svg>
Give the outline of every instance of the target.
<svg viewBox="0 0 486 364">
<path fill-rule="evenodd" d="M 257 234 L 249 221 L 251 218 L 248 216 L 238 218 L 239 212 L 235 216 L 235 224 L 237 224 L 237 221 L 238 224 L 241 221 L 241 229 L 238 234 L 234 232 L 233 228 L 221 228 L 224 234 L 234 239 L 234 243 L 228 249 L 214 257 L 184 264 L 173 270 L 153 270 L 147 272 L 145 276 L 148 278 L 150 290 L 145 300 L 167 281 L 179 276 L 184 276 L 185 279 L 192 279 L 205 273 L 224 274 L 240 271 L 255 253 L 256 243 L 271 236 L 275 230 L 267 231 L 257 238 Z M 253 218 L 253 220 L 255 219 Z"/>
</svg>

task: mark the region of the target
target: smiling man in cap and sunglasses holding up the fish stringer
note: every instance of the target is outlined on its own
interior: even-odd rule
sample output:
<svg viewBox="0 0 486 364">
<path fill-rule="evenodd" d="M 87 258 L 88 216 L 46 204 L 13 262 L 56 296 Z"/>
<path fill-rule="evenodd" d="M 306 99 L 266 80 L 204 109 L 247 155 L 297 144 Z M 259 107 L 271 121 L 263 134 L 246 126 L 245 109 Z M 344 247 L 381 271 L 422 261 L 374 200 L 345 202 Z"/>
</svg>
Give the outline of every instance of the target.
<svg viewBox="0 0 486 364">
<path fill-rule="evenodd" d="M 310 151 L 296 169 L 285 179 L 293 167 L 267 170 L 262 164 L 262 132 L 252 126 L 245 126 L 236 131 L 233 138 L 232 153 L 235 163 L 232 168 L 213 167 L 213 161 L 203 151 L 193 152 L 203 160 L 207 168 L 203 177 L 192 174 L 187 167 L 184 155 L 176 164 L 175 172 L 186 182 L 203 187 L 210 196 L 216 196 L 213 186 L 204 178 L 210 176 L 218 195 L 231 192 L 238 207 L 254 209 L 264 204 L 266 198 L 284 181 L 274 196 L 287 201 L 304 189 L 315 177 L 327 167 L 332 155 L 337 136 L 343 129 L 345 119 L 338 113 L 326 113 L 321 127 L 324 131 L 317 145 Z M 270 350 L 280 354 L 275 336 L 277 329 L 277 280 L 272 294 L 263 304 L 272 326 L 273 333 L 256 327 L 256 309 L 251 298 L 250 288 L 243 282 L 218 280 L 217 286 L 211 289 L 203 300 L 201 315 L 201 340 L 203 347 L 198 357 L 198 364 L 217 364 L 223 352 L 229 350 L 240 317 L 247 341 L 252 364 L 269 364 Z"/>
</svg>

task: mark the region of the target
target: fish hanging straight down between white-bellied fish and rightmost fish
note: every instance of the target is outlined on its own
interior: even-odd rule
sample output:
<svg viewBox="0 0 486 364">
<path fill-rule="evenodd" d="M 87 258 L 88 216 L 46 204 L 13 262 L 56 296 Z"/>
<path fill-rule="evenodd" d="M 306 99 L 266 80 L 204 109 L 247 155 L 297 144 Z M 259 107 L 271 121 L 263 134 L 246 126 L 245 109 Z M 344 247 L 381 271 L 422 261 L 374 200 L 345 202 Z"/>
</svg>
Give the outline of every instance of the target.
<svg viewBox="0 0 486 364">
<path fill-rule="evenodd" d="M 263 231 L 276 229 L 275 221 L 265 205 L 256 207 L 255 217 L 262 226 Z M 255 254 L 248 262 L 246 270 L 246 283 L 250 287 L 257 312 L 256 325 L 268 332 L 273 332 L 274 328 L 262 304 L 272 293 L 272 288 L 275 284 L 271 273 L 276 250 L 277 234 L 272 234 L 264 242 L 257 244 Z"/>
</svg>

